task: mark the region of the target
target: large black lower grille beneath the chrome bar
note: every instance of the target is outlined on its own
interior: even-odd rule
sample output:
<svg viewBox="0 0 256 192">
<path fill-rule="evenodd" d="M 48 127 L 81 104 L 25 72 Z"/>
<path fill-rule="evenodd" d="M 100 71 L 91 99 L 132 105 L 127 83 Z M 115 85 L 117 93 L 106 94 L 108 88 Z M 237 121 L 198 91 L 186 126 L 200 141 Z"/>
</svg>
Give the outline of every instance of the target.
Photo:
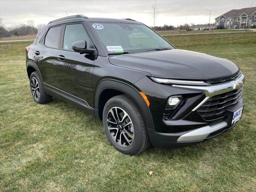
<svg viewBox="0 0 256 192">
<path fill-rule="evenodd" d="M 226 108 L 236 104 L 242 97 L 243 87 L 213 96 L 205 102 L 197 112 L 204 118 L 204 120 L 211 121 L 220 118 L 225 118 Z"/>
</svg>

